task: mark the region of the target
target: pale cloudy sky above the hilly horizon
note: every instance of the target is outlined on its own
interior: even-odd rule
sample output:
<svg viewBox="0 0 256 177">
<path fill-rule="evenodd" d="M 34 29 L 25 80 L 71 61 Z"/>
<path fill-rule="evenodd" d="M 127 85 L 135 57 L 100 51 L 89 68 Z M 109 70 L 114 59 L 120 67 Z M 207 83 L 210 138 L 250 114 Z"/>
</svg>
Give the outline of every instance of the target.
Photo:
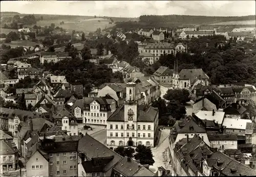
<svg viewBox="0 0 256 177">
<path fill-rule="evenodd" d="M 1 1 L 1 12 L 81 16 L 255 15 L 255 1 Z"/>
</svg>

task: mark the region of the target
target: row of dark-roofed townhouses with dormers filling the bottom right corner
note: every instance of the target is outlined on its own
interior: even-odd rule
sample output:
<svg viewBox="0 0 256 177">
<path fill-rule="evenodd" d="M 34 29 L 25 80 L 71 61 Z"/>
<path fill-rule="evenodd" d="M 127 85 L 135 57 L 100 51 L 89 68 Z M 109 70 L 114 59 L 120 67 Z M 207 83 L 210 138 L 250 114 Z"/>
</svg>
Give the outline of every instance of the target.
<svg viewBox="0 0 256 177">
<path fill-rule="evenodd" d="M 209 147 L 199 136 L 173 148 L 172 174 L 178 176 L 254 175 L 255 170 Z"/>
</svg>

